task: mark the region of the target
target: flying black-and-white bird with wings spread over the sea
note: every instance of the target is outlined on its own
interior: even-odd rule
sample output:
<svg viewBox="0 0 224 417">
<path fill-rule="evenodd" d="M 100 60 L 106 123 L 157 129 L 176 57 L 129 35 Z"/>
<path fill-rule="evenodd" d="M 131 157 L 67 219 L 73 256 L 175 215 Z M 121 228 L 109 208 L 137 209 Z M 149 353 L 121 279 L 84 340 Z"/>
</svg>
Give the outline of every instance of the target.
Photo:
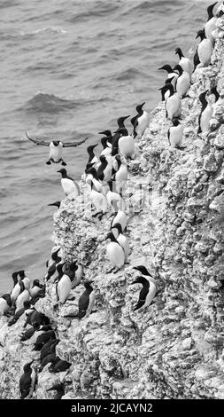
<svg viewBox="0 0 224 417">
<path fill-rule="evenodd" d="M 46 162 L 47 165 L 50 165 L 51 162 L 53 163 L 59 163 L 61 162 L 62 165 L 66 165 L 66 162 L 63 160 L 63 148 L 64 147 L 75 147 L 83 144 L 86 142 L 86 140 L 89 138 L 85 138 L 80 140 L 79 142 L 61 142 L 60 140 L 51 140 L 50 142 L 45 142 L 42 139 L 36 139 L 36 138 L 30 138 L 27 135 L 26 136 L 29 140 L 34 142 L 36 145 L 41 146 L 48 146 L 50 147 L 50 155 L 49 160 Z"/>
</svg>

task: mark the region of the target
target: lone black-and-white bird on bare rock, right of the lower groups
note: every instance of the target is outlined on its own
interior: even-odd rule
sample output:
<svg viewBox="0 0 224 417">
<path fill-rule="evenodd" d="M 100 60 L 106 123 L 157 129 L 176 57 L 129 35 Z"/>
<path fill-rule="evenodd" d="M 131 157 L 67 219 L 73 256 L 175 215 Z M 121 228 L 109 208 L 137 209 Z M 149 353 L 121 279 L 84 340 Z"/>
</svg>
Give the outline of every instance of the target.
<svg viewBox="0 0 224 417">
<path fill-rule="evenodd" d="M 134 308 L 134 311 L 140 309 L 142 311 L 151 304 L 154 296 L 156 295 L 157 287 L 155 283 L 151 280 L 151 277 L 147 279 L 143 276 L 139 276 L 135 279 L 135 281 L 131 283 L 131 285 L 134 284 L 142 284 L 143 286 L 139 293 L 138 302 Z"/>
</svg>

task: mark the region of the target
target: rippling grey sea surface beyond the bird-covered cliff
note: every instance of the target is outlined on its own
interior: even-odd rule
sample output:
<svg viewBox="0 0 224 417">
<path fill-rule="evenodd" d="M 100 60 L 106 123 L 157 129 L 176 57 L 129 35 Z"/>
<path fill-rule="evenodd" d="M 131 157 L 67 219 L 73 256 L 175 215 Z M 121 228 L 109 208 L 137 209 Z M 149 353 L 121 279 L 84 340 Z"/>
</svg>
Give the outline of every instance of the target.
<svg viewBox="0 0 224 417">
<path fill-rule="evenodd" d="M 0 292 L 12 271 L 42 279 L 52 242 L 47 205 L 64 198 L 49 149 L 30 136 L 76 141 L 116 128 L 120 115 L 158 104 L 174 49 L 192 55 L 211 1 L 1 0 Z M 129 127 L 127 123 L 127 128 Z M 87 144 L 66 149 L 68 173 L 81 177 Z"/>
</svg>

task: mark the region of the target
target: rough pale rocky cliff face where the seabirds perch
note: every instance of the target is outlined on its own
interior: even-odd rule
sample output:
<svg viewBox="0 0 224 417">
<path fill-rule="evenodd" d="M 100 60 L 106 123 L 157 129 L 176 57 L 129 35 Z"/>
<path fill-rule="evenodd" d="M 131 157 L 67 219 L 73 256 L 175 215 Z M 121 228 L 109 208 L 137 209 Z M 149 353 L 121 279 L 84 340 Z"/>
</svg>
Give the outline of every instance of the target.
<svg viewBox="0 0 224 417">
<path fill-rule="evenodd" d="M 54 216 L 54 239 L 65 259 L 83 267 L 81 285 L 58 311 L 55 284 L 35 304 L 57 328 L 57 353 L 72 372 L 38 374 L 34 398 L 53 397 L 55 382 L 66 383 L 65 398 L 224 398 L 224 19 L 217 22 L 212 65 L 198 67 L 189 97 L 182 100 L 184 149 L 167 140 L 164 104 L 138 141 L 129 163 L 126 197 L 129 264 L 117 273 L 105 256 L 111 213 L 99 222 L 89 203 L 63 201 Z M 208 136 L 197 135 L 198 96 L 217 85 L 219 106 Z M 142 186 L 140 186 L 142 185 Z M 85 185 L 81 183 L 85 193 Z M 133 266 L 146 265 L 158 295 L 143 312 L 133 311 L 139 286 Z M 89 318 L 73 318 L 93 279 L 96 308 Z M 19 342 L 24 321 L 0 322 L 0 393 L 19 397 L 22 366 L 39 354 Z M 34 362 L 38 364 L 38 362 Z"/>
</svg>

